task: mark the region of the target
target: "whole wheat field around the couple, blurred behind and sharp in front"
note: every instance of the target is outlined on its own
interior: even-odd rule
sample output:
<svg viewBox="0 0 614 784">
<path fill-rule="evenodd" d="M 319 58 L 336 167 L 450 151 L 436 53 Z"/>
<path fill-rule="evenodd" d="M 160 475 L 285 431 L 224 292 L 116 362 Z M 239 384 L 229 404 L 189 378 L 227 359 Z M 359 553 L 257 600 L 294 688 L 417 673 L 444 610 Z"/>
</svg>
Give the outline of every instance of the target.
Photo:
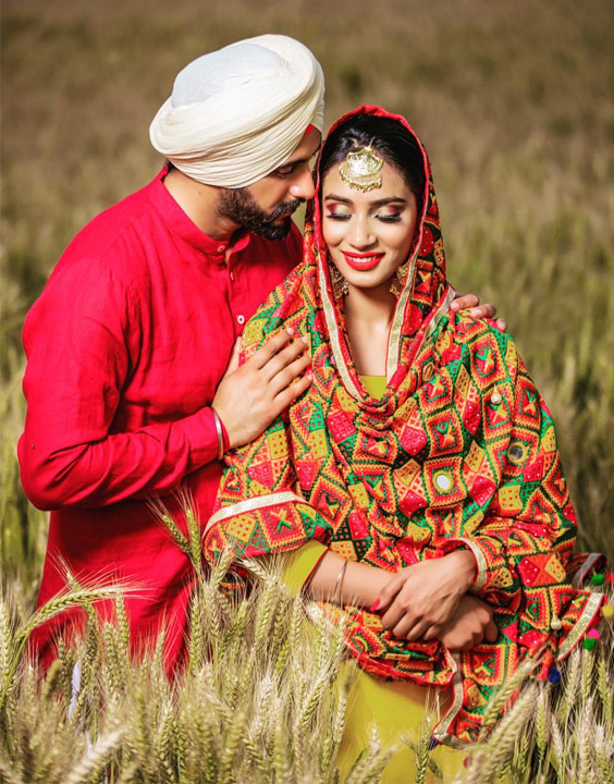
<svg viewBox="0 0 614 784">
<path fill-rule="evenodd" d="M 192 727 L 189 700 L 206 694 L 214 706 L 228 687 L 198 650 L 192 694 L 171 695 L 156 652 L 118 681 L 110 667 L 121 660 L 121 628 L 93 626 L 82 656 L 89 656 L 99 677 L 88 683 L 84 672 L 83 705 L 73 718 L 65 719 L 74 651 L 47 676 L 42 694 L 36 686 L 19 645 L 33 613 L 46 536 L 45 515 L 21 492 L 15 460 L 24 416 L 24 315 L 76 231 L 156 174 L 161 161 L 147 130 L 174 74 L 237 38 L 266 32 L 298 37 L 323 65 L 329 124 L 361 102 L 377 102 L 405 114 L 425 140 L 450 279 L 494 302 L 507 319 L 557 425 L 579 544 L 612 560 L 614 7 L 609 0 L 4 0 L 1 13 L 0 634 L 9 642 L 0 644 L 0 737 L 7 740 L 10 731 L 16 739 L 10 748 L 3 744 L 0 781 L 103 781 L 109 770 L 114 781 L 223 781 L 220 770 L 248 764 L 260 771 L 258 781 L 333 781 L 335 749 L 307 760 L 273 719 L 258 719 L 256 702 L 244 705 L 242 721 L 267 726 L 268 756 L 258 763 L 244 747 L 243 757 L 229 762 L 242 730 L 238 719 L 224 723 L 219 706 L 218 713 L 211 707 L 214 727 Z M 283 601 L 275 596 L 279 612 Z M 235 625 L 257 626 L 256 604 Z M 221 617 L 231 610 L 214 612 Z M 330 675 L 334 645 L 321 645 L 321 656 L 332 657 Z M 278 653 L 271 651 L 273 672 Z M 292 651 L 283 656 L 292 663 Z M 100 658 L 109 659 L 101 667 Z M 556 693 L 526 686 L 530 699 L 517 702 L 520 710 L 508 714 L 513 724 L 502 725 L 504 735 L 490 751 L 476 750 L 470 780 L 487 781 L 493 765 L 508 764 L 519 782 L 611 781 L 603 771 L 613 761 L 612 673 L 604 636 L 597 652 L 578 652 Z M 273 688 L 258 683 L 260 697 L 259 689 Z M 317 706 L 322 724 L 310 726 L 337 722 L 339 734 L 343 694 L 319 688 L 310 710 Z M 109 699 L 95 711 L 101 695 Z M 283 702 L 284 696 L 277 698 Z M 543 707 L 529 711 L 531 705 Z M 294 749 L 292 763 L 280 756 L 282 743 Z M 416 744 L 417 775 L 423 764 L 423 776 L 434 775 Z M 53 748 L 54 761 L 46 758 Z M 383 757 L 373 739 L 356 781 L 377 781 Z M 15 767 L 16 759 L 25 767 Z"/>
</svg>

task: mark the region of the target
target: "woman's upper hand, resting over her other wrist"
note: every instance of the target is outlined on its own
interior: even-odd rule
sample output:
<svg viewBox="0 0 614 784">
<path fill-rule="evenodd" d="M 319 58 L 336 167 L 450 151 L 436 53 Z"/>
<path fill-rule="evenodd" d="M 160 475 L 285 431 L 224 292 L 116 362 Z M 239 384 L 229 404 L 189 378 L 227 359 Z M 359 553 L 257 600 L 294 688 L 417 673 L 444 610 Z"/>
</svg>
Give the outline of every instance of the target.
<svg viewBox="0 0 614 784">
<path fill-rule="evenodd" d="M 450 621 L 476 575 L 466 550 L 407 566 L 390 579 L 373 605 L 382 624 L 400 639 L 434 639 Z"/>
</svg>

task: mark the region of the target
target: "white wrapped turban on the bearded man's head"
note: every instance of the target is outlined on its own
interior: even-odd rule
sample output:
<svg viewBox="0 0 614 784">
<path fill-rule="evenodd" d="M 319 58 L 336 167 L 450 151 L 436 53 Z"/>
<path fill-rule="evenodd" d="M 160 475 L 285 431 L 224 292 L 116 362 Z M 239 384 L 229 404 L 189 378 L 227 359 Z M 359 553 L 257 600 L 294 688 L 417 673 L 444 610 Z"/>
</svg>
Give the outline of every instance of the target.
<svg viewBox="0 0 614 784">
<path fill-rule="evenodd" d="M 251 185 L 323 126 L 324 77 L 306 46 L 263 35 L 204 54 L 177 74 L 149 128 L 154 147 L 208 185 Z"/>
</svg>

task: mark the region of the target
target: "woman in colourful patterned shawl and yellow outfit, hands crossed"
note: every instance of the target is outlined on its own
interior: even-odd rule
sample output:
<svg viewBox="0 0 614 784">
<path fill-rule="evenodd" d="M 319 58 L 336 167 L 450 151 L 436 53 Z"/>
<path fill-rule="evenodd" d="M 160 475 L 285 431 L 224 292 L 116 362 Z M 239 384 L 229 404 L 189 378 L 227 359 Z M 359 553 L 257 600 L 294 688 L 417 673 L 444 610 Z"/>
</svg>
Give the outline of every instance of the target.
<svg viewBox="0 0 614 784">
<path fill-rule="evenodd" d="M 540 651 L 545 676 L 602 598 L 568 581 L 575 515 L 548 408 L 513 341 L 452 298 L 426 151 L 405 120 L 360 107 L 323 145 L 303 264 L 244 333 L 246 357 L 284 328 L 308 336 L 314 381 L 228 454 L 205 550 L 292 552 L 292 579 L 347 615 L 378 678 L 363 683 L 396 682 L 365 699 L 394 726 L 398 700 L 438 689 L 433 737 L 457 747 L 521 657 Z"/>
</svg>

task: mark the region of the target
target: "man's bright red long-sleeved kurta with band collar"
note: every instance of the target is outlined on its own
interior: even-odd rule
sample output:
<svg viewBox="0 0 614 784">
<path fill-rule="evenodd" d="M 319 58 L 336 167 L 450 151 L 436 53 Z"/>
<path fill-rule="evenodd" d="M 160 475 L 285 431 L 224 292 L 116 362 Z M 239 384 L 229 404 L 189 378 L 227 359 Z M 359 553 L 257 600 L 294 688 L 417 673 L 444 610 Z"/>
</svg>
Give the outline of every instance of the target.
<svg viewBox="0 0 614 784">
<path fill-rule="evenodd" d="M 64 587 L 60 560 L 79 580 L 127 580 L 138 587 L 127 602 L 135 639 L 165 617 L 175 660 L 193 574 L 147 498 L 176 510 L 183 483 L 209 518 L 221 467 L 208 406 L 243 324 L 302 242 L 295 226 L 284 241 L 212 240 L 164 174 L 75 237 L 29 311 L 19 456 L 26 494 L 53 510 L 39 603 Z M 51 632 L 35 640 L 44 653 Z"/>
</svg>

